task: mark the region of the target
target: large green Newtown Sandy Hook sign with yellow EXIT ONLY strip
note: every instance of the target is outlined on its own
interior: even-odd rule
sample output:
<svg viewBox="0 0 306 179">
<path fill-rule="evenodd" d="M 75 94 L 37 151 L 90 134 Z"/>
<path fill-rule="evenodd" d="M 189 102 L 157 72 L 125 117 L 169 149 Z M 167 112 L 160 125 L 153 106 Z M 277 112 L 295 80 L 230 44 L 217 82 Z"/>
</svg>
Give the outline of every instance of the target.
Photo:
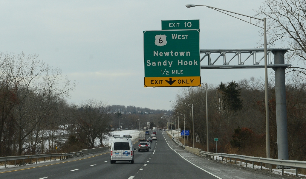
<svg viewBox="0 0 306 179">
<path fill-rule="evenodd" d="M 144 87 L 200 86 L 199 30 L 144 31 Z"/>
</svg>

